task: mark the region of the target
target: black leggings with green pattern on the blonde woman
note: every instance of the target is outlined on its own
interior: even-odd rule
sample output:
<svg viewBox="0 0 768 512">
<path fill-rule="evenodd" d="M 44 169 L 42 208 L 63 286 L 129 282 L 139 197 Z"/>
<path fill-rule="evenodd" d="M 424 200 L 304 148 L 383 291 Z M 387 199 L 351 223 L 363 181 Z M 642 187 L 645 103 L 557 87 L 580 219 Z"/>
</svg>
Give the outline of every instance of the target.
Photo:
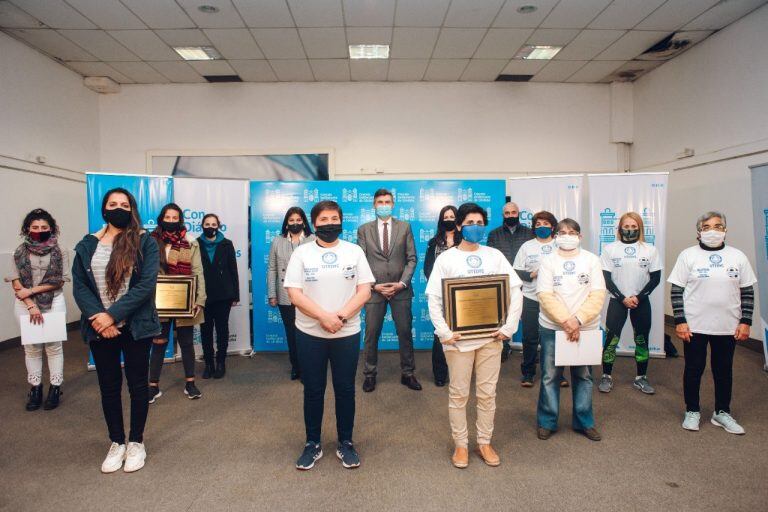
<svg viewBox="0 0 768 512">
<path fill-rule="evenodd" d="M 627 321 L 632 322 L 632 330 L 635 332 L 635 363 L 637 375 L 645 375 L 648 371 L 648 337 L 651 334 L 651 303 L 643 299 L 636 308 L 630 309 L 617 299 L 612 298 L 608 302 L 608 314 L 605 317 L 605 348 L 603 349 L 603 373 L 610 375 L 613 371 L 613 363 L 616 361 L 616 347 L 619 345 L 621 330 Z"/>
</svg>

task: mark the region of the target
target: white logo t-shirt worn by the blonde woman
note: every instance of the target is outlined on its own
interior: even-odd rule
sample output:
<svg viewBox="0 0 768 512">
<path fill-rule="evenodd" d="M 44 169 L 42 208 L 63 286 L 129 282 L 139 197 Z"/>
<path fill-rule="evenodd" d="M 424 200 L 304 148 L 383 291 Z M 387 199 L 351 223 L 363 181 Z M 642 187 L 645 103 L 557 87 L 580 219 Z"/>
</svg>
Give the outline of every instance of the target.
<svg viewBox="0 0 768 512">
<path fill-rule="evenodd" d="M 659 251 L 644 242 L 612 242 L 603 247 L 600 261 L 603 270 L 611 273 L 611 279 L 625 297 L 640 293 L 651 280 L 650 273 L 663 268 Z"/>
</svg>

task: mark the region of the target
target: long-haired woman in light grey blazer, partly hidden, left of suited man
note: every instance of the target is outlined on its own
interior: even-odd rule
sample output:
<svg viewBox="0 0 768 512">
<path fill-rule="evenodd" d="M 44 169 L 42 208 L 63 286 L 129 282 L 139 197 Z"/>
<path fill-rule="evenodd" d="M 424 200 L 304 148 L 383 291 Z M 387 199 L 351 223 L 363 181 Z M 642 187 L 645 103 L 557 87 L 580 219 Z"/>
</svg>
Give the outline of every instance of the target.
<svg viewBox="0 0 768 512">
<path fill-rule="evenodd" d="M 280 318 L 283 320 L 285 339 L 288 342 L 288 358 L 291 361 L 291 380 L 301 378 L 299 356 L 296 352 L 296 307 L 291 304 L 288 292 L 283 288 L 283 282 L 293 251 L 300 245 L 314 240 L 315 237 L 309 229 L 304 210 L 298 206 L 292 206 L 285 212 L 280 235 L 272 239 L 272 245 L 269 247 L 267 298 L 270 306 L 279 308 Z"/>
</svg>

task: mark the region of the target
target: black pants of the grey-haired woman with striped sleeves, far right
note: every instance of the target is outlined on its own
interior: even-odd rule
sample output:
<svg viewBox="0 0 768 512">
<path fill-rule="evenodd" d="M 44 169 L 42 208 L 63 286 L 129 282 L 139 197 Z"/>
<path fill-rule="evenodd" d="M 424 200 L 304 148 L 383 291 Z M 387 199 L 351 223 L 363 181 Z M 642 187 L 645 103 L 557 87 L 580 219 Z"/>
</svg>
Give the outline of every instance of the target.
<svg viewBox="0 0 768 512">
<path fill-rule="evenodd" d="M 685 371 L 683 391 L 685 410 L 700 412 L 699 387 L 704 368 L 707 367 L 707 344 L 711 347 L 712 378 L 715 381 L 715 412 L 731 412 L 731 389 L 733 387 L 733 353 L 736 340 L 732 335 L 714 336 L 694 333 L 691 341 L 683 343 Z"/>
</svg>

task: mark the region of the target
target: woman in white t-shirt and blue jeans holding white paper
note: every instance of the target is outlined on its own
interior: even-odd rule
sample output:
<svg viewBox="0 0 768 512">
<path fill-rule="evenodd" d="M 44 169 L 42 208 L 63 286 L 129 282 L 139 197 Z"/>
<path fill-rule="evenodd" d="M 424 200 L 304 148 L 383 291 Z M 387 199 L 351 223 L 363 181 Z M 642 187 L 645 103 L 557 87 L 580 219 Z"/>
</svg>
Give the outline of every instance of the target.
<svg viewBox="0 0 768 512">
<path fill-rule="evenodd" d="M 582 330 L 600 328 L 600 311 L 605 302 L 605 281 L 600 258 L 579 248 L 581 227 L 563 219 L 555 228 L 557 253 L 539 267 L 536 293 L 541 304 L 541 387 L 536 412 L 537 435 L 546 440 L 557 430 L 560 413 L 562 366 L 555 366 L 555 332 L 565 331 L 569 341 L 578 342 Z M 573 429 L 592 441 L 599 441 L 592 414 L 592 369 L 571 367 L 573 388 Z"/>
</svg>

